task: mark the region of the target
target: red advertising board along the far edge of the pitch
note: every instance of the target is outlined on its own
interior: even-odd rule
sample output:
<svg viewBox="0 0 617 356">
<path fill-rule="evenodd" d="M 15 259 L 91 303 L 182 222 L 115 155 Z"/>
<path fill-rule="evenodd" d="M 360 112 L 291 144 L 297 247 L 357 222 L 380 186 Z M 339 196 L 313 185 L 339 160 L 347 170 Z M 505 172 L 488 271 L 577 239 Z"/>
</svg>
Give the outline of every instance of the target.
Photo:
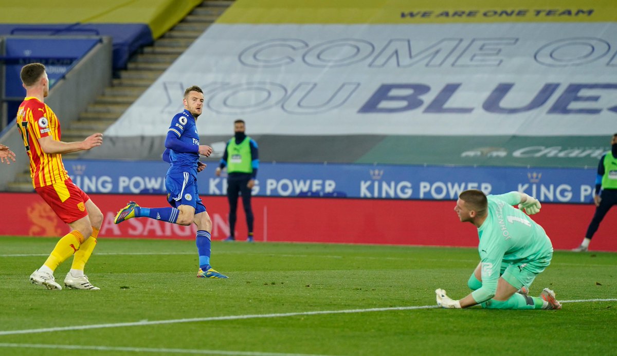
<svg viewBox="0 0 617 356">
<path fill-rule="evenodd" d="M 148 208 L 167 206 L 164 195 L 91 194 L 105 216 L 99 236 L 112 238 L 193 239 L 194 226 L 168 224 L 145 217 L 114 224 L 114 216 L 127 201 Z M 212 238 L 228 236 L 225 196 L 204 196 L 213 222 Z M 0 193 L 0 235 L 60 236 L 68 232 L 49 206 L 35 193 Z M 478 234 L 462 224 L 453 201 L 373 200 L 349 198 L 254 197 L 255 241 L 362 243 L 426 246 L 477 246 Z M 594 236 L 592 249 L 617 251 L 616 212 L 607 214 Z M 549 234 L 555 249 L 571 249 L 581 242 L 594 206 L 542 204 L 533 218 Z M 239 203 L 236 237 L 246 237 L 246 222 Z"/>
</svg>

